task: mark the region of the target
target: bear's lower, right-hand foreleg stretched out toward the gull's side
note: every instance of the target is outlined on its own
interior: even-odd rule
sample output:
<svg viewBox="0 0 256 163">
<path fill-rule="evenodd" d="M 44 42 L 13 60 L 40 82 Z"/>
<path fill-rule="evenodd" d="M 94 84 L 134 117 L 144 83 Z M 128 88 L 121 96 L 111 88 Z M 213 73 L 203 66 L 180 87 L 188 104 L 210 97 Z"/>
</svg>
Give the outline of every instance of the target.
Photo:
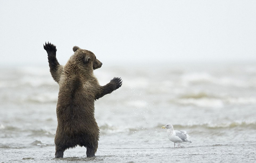
<svg viewBox="0 0 256 163">
<path fill-rule="evenodd" d="M 101 86 L 101 89 L 98 94 L 95 96 L 95 100 L 99 99 L 100 97 L 103 97 L 106 94 L 111 93 L 112 91 L 120 88 L 122 86 L 122 79 L 121 78 L 113 78 L 110 80 L 109 83 L 107 83 L 104 86 Z"/>
</svg>

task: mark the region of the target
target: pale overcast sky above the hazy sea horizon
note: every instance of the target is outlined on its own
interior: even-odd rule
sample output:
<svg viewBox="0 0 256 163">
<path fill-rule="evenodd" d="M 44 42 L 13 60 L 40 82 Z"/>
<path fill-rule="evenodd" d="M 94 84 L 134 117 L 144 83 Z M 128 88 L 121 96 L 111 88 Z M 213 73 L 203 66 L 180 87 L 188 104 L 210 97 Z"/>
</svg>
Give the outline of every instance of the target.
<svg viewBox="0 0 256 163">
<path fill-rule="evenodd" d="M 256 61 L 256 0 L 0 0 L 0 64 Z"/>
</svg>

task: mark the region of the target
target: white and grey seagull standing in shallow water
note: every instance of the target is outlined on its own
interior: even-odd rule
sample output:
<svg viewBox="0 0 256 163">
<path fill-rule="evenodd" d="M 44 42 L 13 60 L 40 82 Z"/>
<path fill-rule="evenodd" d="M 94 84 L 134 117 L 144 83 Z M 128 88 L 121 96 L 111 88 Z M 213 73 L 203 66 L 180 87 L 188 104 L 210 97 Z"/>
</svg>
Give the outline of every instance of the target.
<svg viewBox="0 0 256 163">
<path fill-rule="evenodd" d="M 180 143 L 182 142 L 192 143 L 190 140 L 188 140 L 188 134 L 186 131 L 174 130 L 171 124 L 167 124 L 162 127 L 162 129 L 165 129 L 165 128 L 167 129 L 166 133 L 167 133 L 168 139 L 174 142 L 174 148 L 175 148 L 175 143 L 178 143 L 178 147 L 180 147 Z"/>
</svg>

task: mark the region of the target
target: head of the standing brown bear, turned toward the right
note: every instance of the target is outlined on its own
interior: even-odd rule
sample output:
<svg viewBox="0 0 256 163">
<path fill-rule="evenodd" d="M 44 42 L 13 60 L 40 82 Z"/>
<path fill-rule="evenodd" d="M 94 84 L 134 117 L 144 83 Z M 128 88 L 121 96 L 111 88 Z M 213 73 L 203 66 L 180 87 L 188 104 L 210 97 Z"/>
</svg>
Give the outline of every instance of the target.
<svg viewBox="0 0 256 163">
<path fill-rule="evenodd" d="M 80 66 L 92 68 L 92 70 L 101 68 L 102 62 L 100 62 L 89 50 L 80 49 L 78 46 L 74 46 L 73 51 L 74 55 L 70 57 L 70 60 L 75 60 Z"/>
</svg>

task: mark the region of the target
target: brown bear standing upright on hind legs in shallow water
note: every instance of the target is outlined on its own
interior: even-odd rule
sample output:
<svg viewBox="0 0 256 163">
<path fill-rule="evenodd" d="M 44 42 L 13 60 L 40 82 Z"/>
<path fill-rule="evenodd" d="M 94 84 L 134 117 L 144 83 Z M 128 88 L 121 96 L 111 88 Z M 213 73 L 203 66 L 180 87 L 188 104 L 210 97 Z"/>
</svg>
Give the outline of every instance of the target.
<svg viewBox="0 0 256 163">
<path fill-rule="evenodd" d="M 56 46 L 45 43 L 52 78 L 59 84 L 57 102 L 58 126 L 55 135 L 55 157 L 63 157 L 68 148 L 86 147 L 87 157 L 95 156 L 99 127 L 94 117 L 94 101 L 122 86 L 120 78 L 100 86 L 93 70 L 102 63 L 88 51 L 73 47 L 74 54 L 65 66 L 56 59 Z"/>
</svg>

